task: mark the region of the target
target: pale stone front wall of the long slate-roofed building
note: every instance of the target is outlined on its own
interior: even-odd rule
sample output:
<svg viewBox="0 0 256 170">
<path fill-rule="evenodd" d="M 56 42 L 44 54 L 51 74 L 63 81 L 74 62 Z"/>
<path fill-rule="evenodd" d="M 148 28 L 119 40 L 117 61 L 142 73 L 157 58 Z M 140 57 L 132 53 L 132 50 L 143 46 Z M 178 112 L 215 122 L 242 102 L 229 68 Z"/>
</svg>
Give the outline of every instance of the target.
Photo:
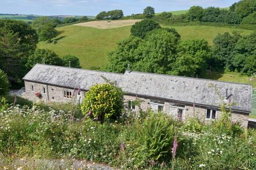
<svg viewBox="0 0 256 170">
<path fill-rule="evenodd" d="M 34 91 L 31 91 L 31 85 L 34 86 Z M 45 87 L 46 93 L 43 94 L 43 87 Z M 26 88 L 26 93 L 23 94 L 23 97 L 26 99 L 29 99 L 33 102 L 38 102 L 40 99 L 38 99 L 38 97 L 35 96 L 35 93 L 41 93 L 42 94 L 42 101 L 43 102 L 61 102 L 61 103 L 70 103 L 70 102 L 78 102 L 79 97 L 74 96 L 73 99 L 66 99 L 63 95 L 63 91 L 64 90 L 69 90 L 73 93 L 73 89 L 70 88 L 63 88 L 63 87 L 59 87 L 59 86 L 52 86 L 52 85 L 45 85 L 45 84 L 40 84 L 40 83 L 35 83 L 35 82 L 29 82 L 29 81 L 25 81 L 25 88 Z M 77 92 L 77 89 L 76 89 Z M 85 92 L 82 91 L 81 92 L 81 96 L 80 96 L 80 102 L 83 101 L 85 96 Z M 146 98 L 146 97 L 136 97 L 136 96 L 130 96 L 130 95 L 125 95 L 124 96 L 125 99 L 125 106 L 127 107 L 127 101 L 128 100 L 136 100 L 139 99 L 141 101 L 140 104 L 140 108 L 143 111 L 147 111 L 148 109 L 151 109 L 151 99 L 152 98 Z M 156 99 L 157 100 L 157 99 Z M 163 107 L 163 111 L 165 113 L 168 113 L 170 115 L 172 115 L 175 119 L 177 119 L 177 113 L 173 114 L 170 111 L 170 106 L 172 106 L 172 102 L 170 101 L 165 101 L 164 107 Z M 180 103 L 178 103 L 180 104 Z M 190 117 L 197 117 L 200 119 L 200 121 L 208 123 L 209 121 L 212 120 L 207 120 L 205 119 L 205 114 L 206 114 L 206 110 L 207 107 L 202 107 L 202 106 L 195 106 L 195 111 L 193 108 L 193 105 L 189 105 L 189 104 L 184 104 L 185 108 L 183 110 L 183 116 L 182 116 L 182 121 L 186 121 L 188 118 Z M 135 112 L 138 113 L 138 111 L 140 110 L 140 108 L 138 106 L 135 107 Z M 221 116 L 221 111 L 216 110 L 216 119 L 218 119 Z M 248 125 L 248 118 L 249 118 L 249 114 L 246 113 L 232 113 L 232 121 L 233 122 L 240 122 L 242 126 L 247 127 Z"/>
</svg>

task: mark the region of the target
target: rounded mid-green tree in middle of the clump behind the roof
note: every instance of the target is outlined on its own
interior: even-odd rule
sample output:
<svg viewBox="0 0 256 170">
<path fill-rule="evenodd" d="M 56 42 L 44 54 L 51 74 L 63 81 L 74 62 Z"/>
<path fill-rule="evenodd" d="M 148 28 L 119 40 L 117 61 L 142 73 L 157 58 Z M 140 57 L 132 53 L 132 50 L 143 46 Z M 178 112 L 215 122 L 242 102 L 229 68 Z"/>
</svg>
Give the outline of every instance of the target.
<svg viewBox="0 0 256 170">
<path fill-rule="evenodd" d="M 167 74 L 172 70 L 176 59 L 177 38 L 172 32 L 157 29 L 148 33 L 145 43 L 141 44 L 143 50 L 141 60 L 136 64 L 135 70 L 149 73 Z"/>
</svg>

